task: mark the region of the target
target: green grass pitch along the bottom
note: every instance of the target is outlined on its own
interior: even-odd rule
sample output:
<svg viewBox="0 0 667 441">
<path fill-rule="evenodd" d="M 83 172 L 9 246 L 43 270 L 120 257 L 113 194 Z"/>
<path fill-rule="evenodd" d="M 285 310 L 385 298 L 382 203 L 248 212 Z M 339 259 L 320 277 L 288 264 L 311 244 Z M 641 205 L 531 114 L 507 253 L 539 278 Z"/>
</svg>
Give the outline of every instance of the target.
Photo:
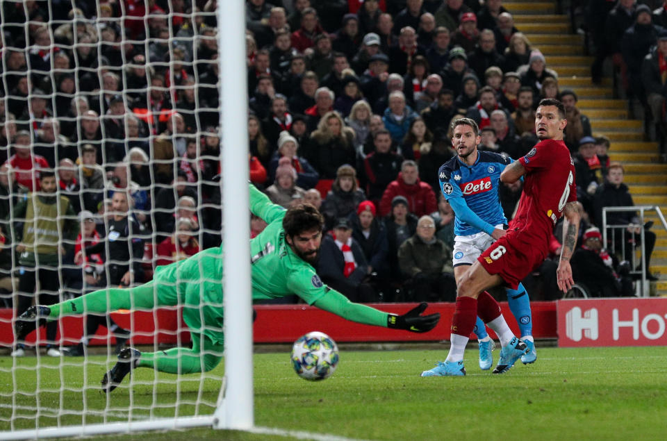
<svg viewBox="0 0 667 441">
<path fill-rule="evenodd" d="M 477 367 L 477 351 L 466 352 L 468 375 L 458 378 L 420 378 L 424 369 L 442 360 L 443 351 L 341 351 L 340 365 L 326 381 L 308 382 L 292 370 L 288 353 L 254 356 L 255 424 L 288 431 L 307 431 L 364 440 L 659 440 L 667 433 L 667 348 L 557 349 L 538 347 L 534 365 L 520 362 L 507 374 L 493 375 Z M 497 360 L 498 351 L 494 351 Z M 149 369 L 133 374 L 132 388 L 121 387 L 109 397 L 99 392 L 106 358 L 94 356 L 83 369 L 81 358 L 58 360 L 35 357 L 0 358 L 0 430 L 9 430 L 12 407 L 26 418 L 15 428 L 34 428 L 35 410 L 44 413 L 40 425 L 56 424 L 45 410 L 83 406 L 86 419 L 100 422 L 132 415 L 170 416 L 212 412 L 220 381 L 200 375 L 156 377 Z M 494 360 L 494 361 L 495 361 Z M 109 362 L 110 363 L 113 362 Z M 222 365 L 211 372 L 222 376 Z M 36 385 L 40 392 L 35 396 Z M 158 378 L 156 391 L 153 382 Z M 129 378 L 126 378 L 128 380 Z M 176 380 L 179 381 L 176 381 Z M 17 382 L 23 393 L 9 396 Z M 64 384 L 63 384 L 64 381 Z M 60 388 L 63 384 L 65 388 Z M 129 382 L 128 382 L 129 385 Z M 181 405 L 174 408 L 179 396 Z M 199 408 L 197 398 L 204 401 Z M 38 402 L 39 401 L 39 402 Z M 80 415 L 61 415 L 74 424 Z M 195 429 L 148 433 L 113 439 L 285 439 L 251 433 Z"/>
</svg>

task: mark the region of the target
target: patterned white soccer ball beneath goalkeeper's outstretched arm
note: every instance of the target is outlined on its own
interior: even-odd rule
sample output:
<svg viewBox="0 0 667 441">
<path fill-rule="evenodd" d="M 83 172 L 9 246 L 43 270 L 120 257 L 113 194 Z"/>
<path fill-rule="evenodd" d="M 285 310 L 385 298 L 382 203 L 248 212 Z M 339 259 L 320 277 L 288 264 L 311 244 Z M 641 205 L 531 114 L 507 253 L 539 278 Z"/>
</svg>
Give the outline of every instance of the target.
<svg viewBox="0 0 667 441">
<path fill-rule="evenodd" d="M 306 380 L 329 378 L 338 366 L 338 347 L 329 335 L 313 331 L 294 342 L 292 366 Z"/>
</svg>

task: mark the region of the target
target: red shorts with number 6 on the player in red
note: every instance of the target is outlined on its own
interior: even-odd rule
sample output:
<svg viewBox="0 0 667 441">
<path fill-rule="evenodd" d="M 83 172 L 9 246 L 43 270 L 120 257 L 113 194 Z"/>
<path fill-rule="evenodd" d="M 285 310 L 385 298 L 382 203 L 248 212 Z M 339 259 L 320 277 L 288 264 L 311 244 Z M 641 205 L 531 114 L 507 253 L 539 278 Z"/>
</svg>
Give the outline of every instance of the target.
<svg viewBox="0 0 667 441">
<path fill-rule="evenodd" d="M 545 243 L 537 244 L 522 231 L 508 231 L 477 258 L 488 274 L 497 274 L 513 290 L 542 265 L 547 257 Z"/>
</svg>

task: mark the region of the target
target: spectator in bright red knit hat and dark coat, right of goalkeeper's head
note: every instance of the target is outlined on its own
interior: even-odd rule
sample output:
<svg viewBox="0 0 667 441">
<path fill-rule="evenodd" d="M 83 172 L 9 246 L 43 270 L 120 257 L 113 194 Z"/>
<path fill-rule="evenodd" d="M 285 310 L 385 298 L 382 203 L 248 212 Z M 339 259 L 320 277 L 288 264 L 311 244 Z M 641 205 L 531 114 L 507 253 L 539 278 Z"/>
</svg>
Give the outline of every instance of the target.
<svg viewBox="0 0 667 441">
<path fill-rule="evenodd" d="M 371 201 L 362 201 L 356 208 L 352 219 L 352 238 L 361 247 L 368 261 L 370 273 L 377 273 L 379 281 L 388 278 L 387 232 L 384 224 L 377 218 L 375 205 Z"/>
</svg>

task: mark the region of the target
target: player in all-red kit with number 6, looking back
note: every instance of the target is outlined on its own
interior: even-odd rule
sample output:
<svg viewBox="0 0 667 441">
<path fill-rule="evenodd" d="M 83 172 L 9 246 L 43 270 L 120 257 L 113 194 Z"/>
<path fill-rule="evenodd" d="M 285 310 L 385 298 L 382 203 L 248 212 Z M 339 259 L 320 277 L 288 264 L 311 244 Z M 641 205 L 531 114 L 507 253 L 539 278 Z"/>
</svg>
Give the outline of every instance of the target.
<svg viewBox="0 0 667 441">
<path fill-rule="evenodd" d="M 494 374 L 507 372 L 527 352 L 527 345 L 507 326 L 498 303 L 484 290 L 501 283 L 518 288 L 519 282 L 547 256 L 550 235 L 561 216 L 565 216 L 565 222 L 557 282 L 563 292 L 574 284 L 570 258 L 577 243 L 581 213 L 576 203 L 575 167 L 563 142 L 566 125 L 565 108 L 560 101 L 540 101 L 535 128 L 541 141 L 500 174 L 500 180 L 507 183 L 525 176 L 516 216 L 507 233 L 481 253 L 461 277 L 452 319 L 450 352 L 444 363 L 422 372 L 422 376 L 466 374 L 463 352 L 477 315 L 500 339 L 502 349 Z"/>
</svg>

